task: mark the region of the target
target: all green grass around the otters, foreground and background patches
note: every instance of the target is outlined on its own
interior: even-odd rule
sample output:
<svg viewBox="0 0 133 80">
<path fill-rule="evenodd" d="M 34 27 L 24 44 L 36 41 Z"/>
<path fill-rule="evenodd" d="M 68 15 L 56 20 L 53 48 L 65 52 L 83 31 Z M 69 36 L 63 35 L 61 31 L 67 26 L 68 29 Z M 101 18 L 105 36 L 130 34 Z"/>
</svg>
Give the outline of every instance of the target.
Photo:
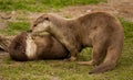
<svg viewBox="0 0 133 80">
<path fill-rule="evenodd" d="M 92 4 L 105 0 L 0 0 L 0 11 L 45 11 L 68 5 Z M 61 4 L 62 3 L 62 4 Z M 14 35 L 29 30 L 28 19 L 8 22 L 2 34 Z M 80 66 L 64 60 L 13 61 L 9 56 L 0 56 L 0 80 L 132 80 L 133 79 L 133 22 L 120 19 L 124 33 L 124 47 L 116 68 L 101 75 L 88 75 L 92 66 Z M 79 60 L 90 60 L 91 48 L 84 49 Z"/>
</svg>

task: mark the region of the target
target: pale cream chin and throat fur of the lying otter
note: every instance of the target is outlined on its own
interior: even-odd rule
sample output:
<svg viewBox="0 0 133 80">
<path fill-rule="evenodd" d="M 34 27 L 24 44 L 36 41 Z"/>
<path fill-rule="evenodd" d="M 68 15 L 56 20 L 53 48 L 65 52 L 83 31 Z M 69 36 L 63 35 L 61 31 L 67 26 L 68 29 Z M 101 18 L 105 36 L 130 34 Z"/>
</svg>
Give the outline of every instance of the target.
<svg viewBox="0 0 133 80">
<path fill-rule="evenodd" d="M 30 35 L 27 36 L 25 55 L 29 59 L 35 59 L 37 57 L 37 45 Z"/>
</svg>

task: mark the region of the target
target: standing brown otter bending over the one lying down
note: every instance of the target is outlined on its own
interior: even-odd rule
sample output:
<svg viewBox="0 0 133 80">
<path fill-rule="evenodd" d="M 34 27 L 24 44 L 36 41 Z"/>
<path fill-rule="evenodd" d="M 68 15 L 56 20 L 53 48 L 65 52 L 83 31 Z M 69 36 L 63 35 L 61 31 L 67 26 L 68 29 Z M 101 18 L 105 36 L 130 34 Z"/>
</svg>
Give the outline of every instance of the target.
<svg viewBox="0 0 133 80">
<path fill-rule="evenodd" d="M 114 69 L 122 54 L 124 32 L 119 20 L 106 12 L 92 12 L 75 19 L 65 19 L 54 13 L 39 16 L 32 33 L 49 32 L 70 52 L 70 60 L 76 60 L 84 47 L 92 47 L 92 59 L 81 65 L 96 66 L 89 73 Z"/>
</svg>

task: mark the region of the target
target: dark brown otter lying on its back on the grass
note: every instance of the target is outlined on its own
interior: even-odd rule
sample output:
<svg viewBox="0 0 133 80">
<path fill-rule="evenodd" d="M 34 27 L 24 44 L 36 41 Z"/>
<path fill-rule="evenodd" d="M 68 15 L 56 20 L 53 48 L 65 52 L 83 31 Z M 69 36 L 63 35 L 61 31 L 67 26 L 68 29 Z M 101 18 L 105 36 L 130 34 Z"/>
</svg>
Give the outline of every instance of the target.
<svg viewBox="0 0 133 80">
<path fill-rule="evenodd" d="M 68 50 L 49 33 L 30 35 L 22 32 L 9 45 L 9 55 L 13 60 L 28 61 L 37 59 L 63 59 Z"/>
</svg>

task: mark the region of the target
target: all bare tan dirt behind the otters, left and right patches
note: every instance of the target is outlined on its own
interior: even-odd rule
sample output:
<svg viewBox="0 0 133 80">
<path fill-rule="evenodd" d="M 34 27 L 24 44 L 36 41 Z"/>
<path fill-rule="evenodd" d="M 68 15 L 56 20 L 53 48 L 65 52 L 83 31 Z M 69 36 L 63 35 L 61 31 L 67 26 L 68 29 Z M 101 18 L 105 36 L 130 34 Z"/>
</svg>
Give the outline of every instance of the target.
<svg viewBox="0 0 133 80">
<path fill-rule="evenodd" d="M 109 0 L 108 3 L 66 7 L 60 11 L 50 11 L 50 12 L 54 12 L 64 15 L 66 18 L 76 18 L 79 15 L 95 11 L 105 11 L 133 22 L 133 0 Z M 11 14 L 7 15 L 3 12 L 0 12 L 0 30 L 7 27 L 7 21 L 17 21 L 16 20 L 17 16 L 24 15 L 32 22 L 32 20 L 37 19 L 41 14 L 42 13 L 31 13 L 31 12 L 28 12 L 25 14 L 20 14 L 16 11 L 12 11 Z M 0 52 L 0 56 L 2 53 Z"/>
</svg>

